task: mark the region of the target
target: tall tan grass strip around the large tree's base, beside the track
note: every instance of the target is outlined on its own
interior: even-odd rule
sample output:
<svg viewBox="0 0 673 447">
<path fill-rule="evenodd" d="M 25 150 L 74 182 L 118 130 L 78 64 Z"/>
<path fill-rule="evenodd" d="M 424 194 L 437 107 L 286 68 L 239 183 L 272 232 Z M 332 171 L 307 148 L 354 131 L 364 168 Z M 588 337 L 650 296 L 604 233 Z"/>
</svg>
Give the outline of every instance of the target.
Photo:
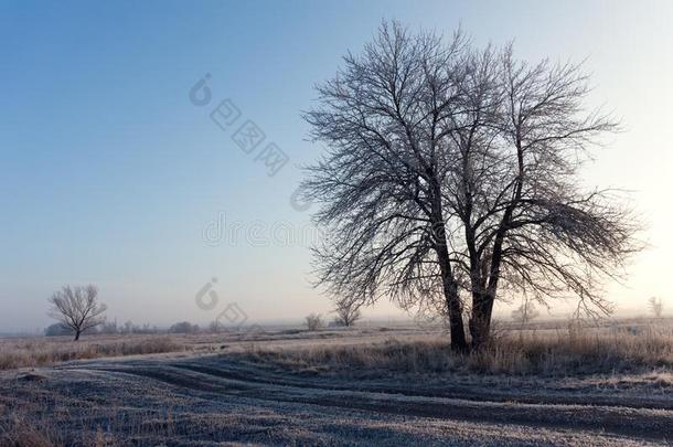
<svg viewBox="0 0 673 447">
<path fill-rule="evenodd" d="M 309 349 L 249 350 L 252 361 L 313 372 L 389 371 L 412 373 L 576 375 L 673 369 L 672 328 L 631 328 L 517 332 L 499 334 L 470 354 L 451 352 L 446 340 L 323 345 Z"/>
</svg>

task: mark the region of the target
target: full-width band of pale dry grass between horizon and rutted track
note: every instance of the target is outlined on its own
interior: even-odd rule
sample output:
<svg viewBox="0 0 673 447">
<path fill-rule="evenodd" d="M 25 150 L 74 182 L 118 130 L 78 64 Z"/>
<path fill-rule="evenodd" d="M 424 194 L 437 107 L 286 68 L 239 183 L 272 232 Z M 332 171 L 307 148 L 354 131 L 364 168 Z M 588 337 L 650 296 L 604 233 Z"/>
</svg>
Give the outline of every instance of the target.
<svg viewBox="0 0 673 447">
<path fill-rule="evenodd" d="M 296 371 L 341 371 L 354 375 L 469 372 L 575 375 L 673 371 L 671 320 L 606 320 L 599 327 L 562 321 L 499 323 L 484 350 L 467 355 L 449 349 L 440 327 L 406 326 L 306 331 L 197 334 L 88 336 L 0 340 L 0 370 L 53 365 L 64 361 L 164 352 L 243 352 Z"/>
</svg>

